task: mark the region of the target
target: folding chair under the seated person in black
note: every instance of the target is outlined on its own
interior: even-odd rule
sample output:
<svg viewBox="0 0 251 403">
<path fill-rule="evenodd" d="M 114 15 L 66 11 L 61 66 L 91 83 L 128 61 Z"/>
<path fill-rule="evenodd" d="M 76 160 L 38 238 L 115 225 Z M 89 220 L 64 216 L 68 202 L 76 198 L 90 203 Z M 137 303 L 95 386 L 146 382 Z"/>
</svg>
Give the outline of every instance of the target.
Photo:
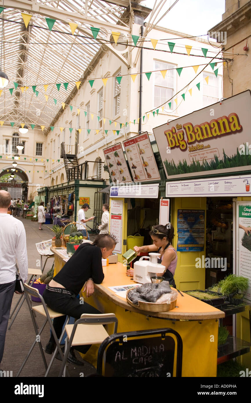
<svg viewBox="0 0 251 403">
<path fill-rule="evenodd" d="M 20 375 L 20 373 L 21 373 L 23 367 L 25 366 L 26 361 L 27 361 L 27 359 L 29 358 L 29 356 L 30 356 L 30 354 L 31 354 L 31 351 L 32 351 L 33 348 L 35 347 L 36 343 L 39 344 L 39 349 L 40 349 L 41 356 L 42 356 L 42 359 L 43 359 L 43 361 L 44 361 L 44 366 L 45 366 L 45 369 L 46 369 L 46 374 L 45 374 L 45 377 L 46 377 L 46 376 L 48 376 L 48 373 L 49 373 L 49 371 L 50 371 L 50 368 L 51 368 L 51 366 L 52 366 L 52 363 L 53 363 L 53 361 L 54 361 L 54 358 L 56 357 L 57 351 L 59 351 L 60 357 L 62 358 L 62 360 L 64 359 L 62 350 L 61 350 L 61 348 L 60 348 L 60 343 L 61 343 L 61 341 L 62 341 L 62 338 L 63 338 L 64 332 L 65 332 L 65 329 L 64 329 L 64 328 L 62 329 L 62 333 L 61 333 L 61 335 L 60 335 L 60 338 L 58 339 L 57 336 L 56 336 L 56 332 L 55 332 L 55 330 L 54 330 L 53 324 L 52 324 L 52 319 L 53 319 L 53 318 L 58 318 L 59 316 L 64 316 L 64 314 L 60 314 L 60 313 L 55 312 L 55 311 L 53 311 L 52 309 L 50 309 L 50 308 L 46 305 L 46 303 L 45 303 L 45 301 L 44 301 L 44 298 L 39 294 L 39 291 L 38 291 L 36 288 L 30 287 L 29 285 L 24 284 L 24 289 L 25 289 L 25 297 L 26 297 L 26 301 L 27 301 L 27 304 L 28 304 L 28 307 L 29 307 L 30 314 L 31 314 L 31 320 L 32 320 L 32 322 L 33 322 L 33 326 L 34 326 L 34 329 L 35 329 L 35 336 L 36 336 L 36 337 L 35 337 L 35 341 L 33 342 L 31 348 L 29 349 L 29 352 L 28 352 L 27 356 L 25 357 L 25 360 L 23 361 L 23 364 L 21 365 L 21 367 L 20 367 L 20 369 L 19 369 L 19 372 L 17 373 L 17 377 Z M 39 297 L 39 298 L 41 299 L 41 303 L 42 303 L 42 304 L 41 304 L 41 305 L 32 306 L 32 305 L 31 305 L 31 300 L 29 299 L 29 295 L 33 295 L 33 297 Z M 39 313 L 39 314 L 41 314 L 41 315 L 43 315 L 43 316 L 46 317 L 46 320 L 45 320 L 44 323 L 42 324 L 40 330 L 38 330 L 38 325 L 37 325 L 37 322 L 36 322 L 36 320 L 35 320 L 35 316 L 34 316 L 34 312 L 33 312 L 33 311 L 35 311 L 35 312 L 37 312 L 37 313 Z M 70 316 L 67 316 L 67 317 L 66 317 L 66 324 L 69 322 L 69 319 L 70 319 Z M 41 345 L 40 337 L 37 338 L 37 336 L 40 336 L 40 335 L 41 335 L 41 333 L 42 333 L 42 331 L 44 330 L 44 327 L 46 326 L 46 323 L 47 323 L 47 322 L 49 322 L 50 329 L 51 329 L 51 331 L 52 331 L 52 334 L 53 334 L 53 337 L 54 337 L 54 340 L 55 340 L 55 343 L 56 343 L 56 349 L 55 349 L 55 351 L 54 351 L 54 353 L 53 353 L 53 355 L 52 355 L 52 359 L 50 360 L 50 364 L 49 364 L 48 366 L 47 366 L 47 363 L 46 363 L 46 358 L 45 358 L 45 356 L 44 356 L 44 351 L 43 351 L 43 347 L 42 347 L 42 345 Z"/>
</svg>

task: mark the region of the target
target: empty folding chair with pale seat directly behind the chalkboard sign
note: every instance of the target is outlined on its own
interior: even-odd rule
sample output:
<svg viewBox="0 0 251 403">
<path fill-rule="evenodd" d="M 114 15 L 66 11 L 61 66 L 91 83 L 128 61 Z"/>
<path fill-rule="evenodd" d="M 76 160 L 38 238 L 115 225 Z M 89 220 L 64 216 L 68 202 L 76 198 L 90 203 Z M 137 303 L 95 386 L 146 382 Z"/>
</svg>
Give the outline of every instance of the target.
<svg viewBox="0 0 251 403">
<path fill-rule="evenodd" d="M 112 322 L 114 323 L 114 333 L 116 333 L 118 319 L 115 314 L 82 314 L 74 325 L 66 325 L 67 337 L 65 339 L 64 360 L 58 376 L 66 375 L 66 361 L 71 346 L 101 344 L 104 339 L 109 337 L 102 325 Z"/>
</svg>

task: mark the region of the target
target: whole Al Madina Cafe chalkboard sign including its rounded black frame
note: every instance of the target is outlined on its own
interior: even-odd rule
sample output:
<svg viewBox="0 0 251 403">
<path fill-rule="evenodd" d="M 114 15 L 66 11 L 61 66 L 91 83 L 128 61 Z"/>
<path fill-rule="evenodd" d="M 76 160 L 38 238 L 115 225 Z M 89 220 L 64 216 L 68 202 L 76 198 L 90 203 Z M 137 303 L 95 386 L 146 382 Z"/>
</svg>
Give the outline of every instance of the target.
<svg viewBox="0 0 251 403">
<path fill-rule="evenodd" d="M 175 339 L 168 334 L 173 334 Z M 149 336 L 149 337 L 147 337 Z M 182 374 L 183 343 L 171 328 L 112 334 L 97 353 L 97 374 L 105 377 L 173 376 Z M 105 357 L 105 359 L 104 359 Z"/>
</svg>

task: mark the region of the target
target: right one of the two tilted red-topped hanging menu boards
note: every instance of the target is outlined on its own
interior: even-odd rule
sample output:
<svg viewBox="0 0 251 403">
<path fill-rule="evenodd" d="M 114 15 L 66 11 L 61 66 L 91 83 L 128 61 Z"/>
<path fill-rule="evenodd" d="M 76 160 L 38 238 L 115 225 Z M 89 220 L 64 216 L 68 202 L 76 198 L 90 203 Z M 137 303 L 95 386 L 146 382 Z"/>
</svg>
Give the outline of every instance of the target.
<svg viewBox="0 0 251 403">
<path fill-rule="evenodd" d="M 134 181 L 160 180 L 147 131 L 129 140 L 124 140 L 123 144 Z"/>
</svg>

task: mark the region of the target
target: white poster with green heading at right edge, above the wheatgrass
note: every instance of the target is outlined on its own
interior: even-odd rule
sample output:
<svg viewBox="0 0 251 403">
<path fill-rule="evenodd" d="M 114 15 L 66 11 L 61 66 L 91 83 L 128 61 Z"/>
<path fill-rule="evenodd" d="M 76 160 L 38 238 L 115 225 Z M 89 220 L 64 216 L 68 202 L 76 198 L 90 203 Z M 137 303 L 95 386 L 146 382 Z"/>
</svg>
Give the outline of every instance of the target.
<svg viewBox="0 0 251 403">
<path fill-rule="evenodd" d="M 245 299 L 251 301 L 251 202 L 236 202 L 239 218 L 236 242 L 236 274 L 249 279 L 249 287 Z M 237 238 L 238 239 L 238 238 Z"/>
</svg>

